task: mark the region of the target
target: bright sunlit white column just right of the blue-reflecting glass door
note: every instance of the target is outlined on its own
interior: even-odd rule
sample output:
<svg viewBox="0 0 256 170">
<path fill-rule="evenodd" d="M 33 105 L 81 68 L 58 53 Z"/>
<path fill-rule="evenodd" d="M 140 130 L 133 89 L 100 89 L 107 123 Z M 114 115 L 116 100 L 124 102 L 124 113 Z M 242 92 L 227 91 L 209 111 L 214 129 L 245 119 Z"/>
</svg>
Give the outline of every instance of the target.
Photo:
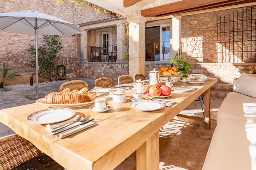
<svg viewBox="0 0 256 170">
<path fill-rule="evenodd" d="M 180 31 L 181 31 L 181 17 L 172 18 L 172 41 L 171 44 L 171 57 L 175 56 L 180 46 Z"/>
</svg>

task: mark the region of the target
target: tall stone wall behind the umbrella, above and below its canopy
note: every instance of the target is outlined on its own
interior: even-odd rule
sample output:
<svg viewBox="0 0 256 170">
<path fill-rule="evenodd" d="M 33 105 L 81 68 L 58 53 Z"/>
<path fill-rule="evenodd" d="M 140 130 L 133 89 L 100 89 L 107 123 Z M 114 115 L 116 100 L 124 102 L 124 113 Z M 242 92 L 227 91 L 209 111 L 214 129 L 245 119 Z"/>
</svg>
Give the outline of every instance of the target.
<svg viewBox="0 0 256 170">
<path fill-rule="evenodd" d="M 90 6 L 79 9 L 67 2 L 56 5 L 56 0 L 1 0 L 0 3 L 0 12 L 38 10 L 75 24 L 109 17 L 104 12 L 96 15 L 95 9 Z M 38 38 L 40 45 L 42 36 Z M 67 78 L 77 76 L 76 70 L 79 69 L 80 62 L 79 38 L 80 35 L 61 36 L 64 48 L 59 54 L 58 62 L 67 67 Z M 6 62 L 12 71 L 20 71 L 21 74 L 35 71 L 31 66 L 33 57 L 27 51 L 29 44 L 35 45 L 34 35 L 0 31 L 0 67 Z"/>
</svg>

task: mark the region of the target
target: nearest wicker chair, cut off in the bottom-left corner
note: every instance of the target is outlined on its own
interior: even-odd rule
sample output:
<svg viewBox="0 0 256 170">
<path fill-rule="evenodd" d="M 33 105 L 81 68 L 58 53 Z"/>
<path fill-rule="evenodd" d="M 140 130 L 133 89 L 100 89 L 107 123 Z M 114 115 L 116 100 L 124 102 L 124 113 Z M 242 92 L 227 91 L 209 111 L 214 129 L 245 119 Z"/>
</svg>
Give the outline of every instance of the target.
<svg viewBox="0 0 256 170">
<path fill-rule="evenodd" d="M 17 134 L 0 138 L 0 170 L 63 170 L 32 143 Z"/>
</svg>

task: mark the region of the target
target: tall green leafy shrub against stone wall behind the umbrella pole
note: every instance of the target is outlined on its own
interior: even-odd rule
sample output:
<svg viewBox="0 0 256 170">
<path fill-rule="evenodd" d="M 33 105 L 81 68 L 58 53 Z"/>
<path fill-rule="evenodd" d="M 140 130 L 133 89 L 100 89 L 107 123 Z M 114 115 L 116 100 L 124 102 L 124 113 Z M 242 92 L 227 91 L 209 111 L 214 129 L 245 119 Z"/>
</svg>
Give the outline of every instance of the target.
<svg viewBox="0 0 256 170">
<path fill-rule="evenodd" d="M 35 46 L 29 44 L 29 52 L 34 56 L 32 66 L 35 67 Z M 60 37 L 58 35 L 44 35 L 42 45 L 38 48 L 38 75 L 48 81 L 55 80 L 55 68 L 58 60 L 58 52 L 61 51 Z"/>
</svg>

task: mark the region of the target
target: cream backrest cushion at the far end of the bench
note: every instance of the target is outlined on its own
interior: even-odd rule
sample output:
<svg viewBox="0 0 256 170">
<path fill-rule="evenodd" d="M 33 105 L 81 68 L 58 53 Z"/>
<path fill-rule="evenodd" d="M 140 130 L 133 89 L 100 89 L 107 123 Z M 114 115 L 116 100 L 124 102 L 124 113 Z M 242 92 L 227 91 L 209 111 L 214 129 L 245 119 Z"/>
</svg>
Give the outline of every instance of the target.
<svg viewBox="0 0 256 170">
<path fill-rule="evenodd" d="M 256 77 L 243 73 L 236 80 L 233 91 L 256 98 Z"/>
</svg>

